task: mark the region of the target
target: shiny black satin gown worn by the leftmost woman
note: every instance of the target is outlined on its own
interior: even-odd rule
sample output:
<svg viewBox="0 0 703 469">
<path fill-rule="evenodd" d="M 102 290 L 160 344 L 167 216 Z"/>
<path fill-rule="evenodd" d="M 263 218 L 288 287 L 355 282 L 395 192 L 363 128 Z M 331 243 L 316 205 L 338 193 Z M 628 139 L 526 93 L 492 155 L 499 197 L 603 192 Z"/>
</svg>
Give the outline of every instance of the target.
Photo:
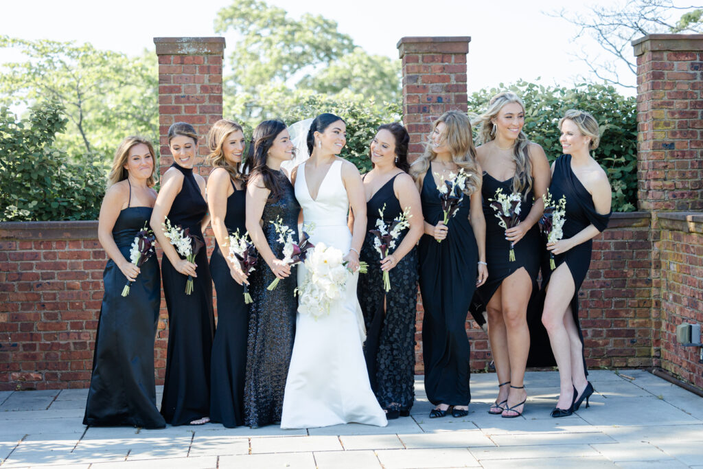
<svg viewBox="0 0 703 469">
<path fill-rule="evenodd" d="M 131 188 L 130 188 L 131 190 Z M 151 207 L 127 207 L 112 228 L 112 238 L 125 259 L 131 243 L 151 217 Z M 112 259 L 103 272 L 105 294 L 93 356 L 93 375 L 84 425 L 134 425 L 164 428 L 156 408 L 154 338 L 159 319 L 159 262 L 150 257 L 122 297 L 127 278 Z"/>
</svg>

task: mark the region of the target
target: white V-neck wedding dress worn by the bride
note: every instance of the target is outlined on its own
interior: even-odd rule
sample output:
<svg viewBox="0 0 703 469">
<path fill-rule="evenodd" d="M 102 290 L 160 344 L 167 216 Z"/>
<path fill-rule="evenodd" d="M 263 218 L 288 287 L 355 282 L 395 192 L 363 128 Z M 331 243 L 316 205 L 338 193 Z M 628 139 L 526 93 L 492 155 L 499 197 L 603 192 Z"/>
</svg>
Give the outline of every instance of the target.
<svg viewBox="0 0 703 469">
<path fill-rule="evenodd" d="M 349 199 L 342 184 L 342 161 L 335 161 L 313 200 L 299 165 L 295 197 L 304 224 L 314 223 L 311 242 L 349 252 L 352 233 L 347 226 Z M 298 285 L 306 269 L 298 264 Z M 385 427 L 387 420 L 371 390 L 361 344 L 363 316 L 356 299 L 359 273 L 350 274 L 347 290 L 330 314 L 318 319 L 298 311 L 295 342 L 283 394 L 281 428 L 314 428 L 356 422 Z"/>
</svg>

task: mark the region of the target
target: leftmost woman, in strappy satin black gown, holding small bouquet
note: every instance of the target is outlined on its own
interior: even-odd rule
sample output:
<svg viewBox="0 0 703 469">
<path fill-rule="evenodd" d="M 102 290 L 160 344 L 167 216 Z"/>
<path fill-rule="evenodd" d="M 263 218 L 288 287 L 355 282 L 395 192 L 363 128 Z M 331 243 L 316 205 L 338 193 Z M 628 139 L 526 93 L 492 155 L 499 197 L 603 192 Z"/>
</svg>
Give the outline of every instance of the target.
<svg viewBox="0 0 703 469">
<path fill-rule="evenodd" d="M 108 253 L 105 294 L 95 339 L 93 375 L 84 425 L 164 428 L 156 408 L 154 338 L 159 319 L 159 262 L 141 268 L 130 262 L 136 233 L 151 216 L 156 200 L 154 148 L 141 137 L 120 143 L 112 162 L 98 219 L 98 240 Z M 122 288 L 133 282 L 129 295 Z"/>
</svg>

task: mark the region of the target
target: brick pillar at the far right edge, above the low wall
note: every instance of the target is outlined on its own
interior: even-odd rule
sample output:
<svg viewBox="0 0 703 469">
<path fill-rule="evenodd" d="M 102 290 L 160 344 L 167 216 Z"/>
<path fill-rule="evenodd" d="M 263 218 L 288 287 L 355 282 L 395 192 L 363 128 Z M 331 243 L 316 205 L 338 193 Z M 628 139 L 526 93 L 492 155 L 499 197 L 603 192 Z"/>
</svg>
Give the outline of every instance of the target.
<svg viewBox="0 0 703 469">
<path fill-rule="evenodd" d="M 703 34 L 650 34 L 637 56 L 638 206 L 703 209 Z"/>
</svg>

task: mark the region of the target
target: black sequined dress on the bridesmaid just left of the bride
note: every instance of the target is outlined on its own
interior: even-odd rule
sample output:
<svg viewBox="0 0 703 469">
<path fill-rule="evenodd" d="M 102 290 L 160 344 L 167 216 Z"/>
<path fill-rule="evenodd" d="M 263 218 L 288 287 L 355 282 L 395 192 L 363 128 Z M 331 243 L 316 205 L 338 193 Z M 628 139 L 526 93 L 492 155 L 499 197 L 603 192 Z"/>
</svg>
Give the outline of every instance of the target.
<svg viewBox="0 0 703 469">
<path fill-rule="evenodd" d="M 269 200 L 264 206 L 262 229 L 273 255 L 283 259 L 283 244 L 278 242 L 278 234 L 271 221 L 280 217 L 284 225 L 295 231 L 293 239 L 297 242 L 300 205 L 285 174 L 276 172 L 276 179 L 282 189 L 281 196 L 276 201 Z M 250 427 L 280 422 L 298 307 L 293 294 L 297 286 L 295 267 L 291 269 L 290 276 L 281 279 L 278 286 L 269 291 L 266 287 L 276 276 L 261 255 L 257 256 L 256 270 L 249 277 L 252 303 L 244 388 L 245 424 Z"/>
</svg>

